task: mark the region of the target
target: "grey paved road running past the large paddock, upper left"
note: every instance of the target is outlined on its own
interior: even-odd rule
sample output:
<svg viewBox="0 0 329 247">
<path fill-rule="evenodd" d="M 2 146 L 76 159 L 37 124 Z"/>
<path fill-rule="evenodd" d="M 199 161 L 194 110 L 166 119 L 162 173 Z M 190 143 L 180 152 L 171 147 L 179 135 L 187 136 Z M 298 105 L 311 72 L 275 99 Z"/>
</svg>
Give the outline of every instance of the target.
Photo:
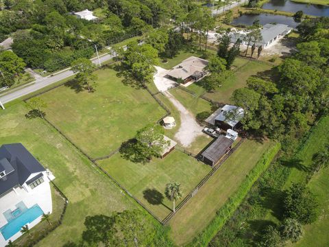
<svg viewBox="0 0 329 247">
<path fill-rule="evenodd" d="M 106 62 L 113 58 L 113 55 L 106 54 L 104 56 L 99 57 L 100 62 Z M 93 63 L 98 64 L 98 59 L 93 58 Z M 11 102 L 14 99 L 18 99 L 19 97 L 22 97 L 24 95 L 28 95 L 29 93 L 33 93 L 35 91 L 38 91 L 39 89 L 44 88 L 45 86 L 49 86 L 50 84 L 53 84 L 54 82 L 59 82 L 60 80 L 63 80 L 65 78 L 69 78 L 71 75 L 74 75 L 75 73 L 71 70 L 64 70 L 60 71 L 53 76 L 47 76 L 44 78 L 38 78 L 34 82 L 31 83 L 31 85 L 22 87 L 21 89 L 16 89 L 15 91 L 12 91 L 11 93 L 7 93 L 6 95 L 3 95 L 0 97 L 0 102 L 3 104 Z"/>
</svg>

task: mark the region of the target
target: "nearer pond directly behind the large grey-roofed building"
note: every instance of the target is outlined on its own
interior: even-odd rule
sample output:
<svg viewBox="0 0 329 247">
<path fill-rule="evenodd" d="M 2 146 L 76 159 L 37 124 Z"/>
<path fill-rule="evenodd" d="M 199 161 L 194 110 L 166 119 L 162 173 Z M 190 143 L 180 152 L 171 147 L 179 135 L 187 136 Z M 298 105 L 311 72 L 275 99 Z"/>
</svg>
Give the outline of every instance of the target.
<svg viewBox="0 0 329 247">
<path fill-rule="evenodd" d="M 281 16 L 276 14 L 243 14 L 242 16 L 234 19 L 232 21 L 232 25 L 252 25 L 254 21 L 259 20 L 261 25 L 265 25 L 267 23 L 278 23 L 278 24 L 286 24 L 289 27 L 297 27 L 300 23 L 294 21 L 293 17 L 290 16 Z"/>
</svg>

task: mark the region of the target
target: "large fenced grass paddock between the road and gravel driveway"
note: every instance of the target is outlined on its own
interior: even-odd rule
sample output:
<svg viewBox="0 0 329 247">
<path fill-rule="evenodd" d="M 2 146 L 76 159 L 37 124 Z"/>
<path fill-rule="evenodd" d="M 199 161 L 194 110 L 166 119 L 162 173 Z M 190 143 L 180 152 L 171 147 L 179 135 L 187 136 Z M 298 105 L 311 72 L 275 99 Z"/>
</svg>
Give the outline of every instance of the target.
<svg viewBox="0 0 329 247">
<path fill-rule="evenodd" d="M 68 82 L 39 96 L 47 103 L 47 119 L 93 158 L 110 154 L 165 114 L 146 90 L 123 84 L 113 69 L 95 73 L 94 93 Z"/>
</svg>

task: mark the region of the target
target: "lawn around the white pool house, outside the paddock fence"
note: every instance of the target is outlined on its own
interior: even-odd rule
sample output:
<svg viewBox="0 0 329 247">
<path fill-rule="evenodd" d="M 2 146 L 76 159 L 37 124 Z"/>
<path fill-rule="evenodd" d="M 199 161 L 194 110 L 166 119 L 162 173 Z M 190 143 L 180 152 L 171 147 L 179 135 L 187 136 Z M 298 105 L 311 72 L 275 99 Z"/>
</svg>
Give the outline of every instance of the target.
<svg viewBox="0 0 329 247">
<path fill-rule="evenodd" d="M 40 163 L 56 176 L 54 183 L 69 199 L 64 221 L 37 246 L 62 246 L 77 242 L 87 215 L 134 209 L 132 199 L 115 186 L 88 159 L 40 118 L 27 119 L 23 102 L 0 111 L 0 145 L 23 143 Z M 54 209 L 56 211 L 56 209 Z"/>
</svg>

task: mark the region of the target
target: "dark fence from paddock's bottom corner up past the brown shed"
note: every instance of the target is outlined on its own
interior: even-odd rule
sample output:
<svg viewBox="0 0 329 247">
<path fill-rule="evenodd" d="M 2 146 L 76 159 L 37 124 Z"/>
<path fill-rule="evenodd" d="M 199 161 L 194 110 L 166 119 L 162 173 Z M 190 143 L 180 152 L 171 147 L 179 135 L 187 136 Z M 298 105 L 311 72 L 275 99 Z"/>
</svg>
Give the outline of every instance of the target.
<svg viewBox="0 0 329 247">
<path fill-rule="evenodd" d="M 235 147 L 232 148 L 228 154 L 226 154 L 226 156 L 215 166 L 212 168 L 212 170 L 199 182 L 199 184 L 194 187 L 194 189 L 192 189 L 192 191 L 190 193 L 188 193 L 188 195 L 182 200 L 182 202 L 180 202 L 180 204 L 177 205 L 175 213 L 177 213 L 178 211 L 180 211 L 180 209 L 182 209 L 182 207 L 184 206 L 184 204 L 186 204 L 186 202 L 188 202 L 188 200 L 190 200 L 193 196 L 195 196 L 195 194 L 197 193 L 197 191 L 208 181 L 209 178 L 212 177 L 213 174 L 215 174 L 215 172 L 217 171 L 217 169 L 221 166 L 221 164 L 224 163 L 224 161 L 226 161 L 228 159 L 228 157 L 237 149 L 239 148 L 239 145 L 241 145 L 241 143 L 243 143 L 243 141 L 245 141 L 245 138 L 241 139 L 239 141 L 239 143 L 236 143 Z M 162 220 L 161 224 L 167 224 L 169 222 L 169 220 L 171 220 L 171 218 L 175 215 L 175 213 L 171 212 L 169 213 L 169 215 L 167 215 L 167 217 L 164 218 L 164 220 Z"/>
</svg>

